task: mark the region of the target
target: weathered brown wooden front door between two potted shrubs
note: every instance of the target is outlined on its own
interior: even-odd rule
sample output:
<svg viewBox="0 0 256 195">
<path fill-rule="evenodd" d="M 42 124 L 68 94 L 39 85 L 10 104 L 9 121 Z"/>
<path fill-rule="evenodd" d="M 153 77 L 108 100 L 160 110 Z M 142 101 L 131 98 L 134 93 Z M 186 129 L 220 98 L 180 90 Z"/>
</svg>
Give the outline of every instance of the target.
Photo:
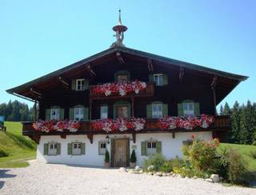
<svg viewBox="0 0 256 195">
<path fill-rule="evenodd" d="M 129 166 L 129 139 L 114 139 L 114 166 Z"/>
</svg>

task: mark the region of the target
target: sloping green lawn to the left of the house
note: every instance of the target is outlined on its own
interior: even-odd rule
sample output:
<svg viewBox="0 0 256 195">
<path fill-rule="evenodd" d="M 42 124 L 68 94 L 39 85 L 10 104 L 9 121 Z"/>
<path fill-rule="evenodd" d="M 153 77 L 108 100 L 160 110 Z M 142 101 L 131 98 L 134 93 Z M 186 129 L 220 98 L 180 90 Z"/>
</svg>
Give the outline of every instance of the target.
<svg viewBox="0 0 256 195">
<path fill-rule="evenodd" d="M 0 157 L 0 168 L 25 167 L 26 161 L 36 156 L 36 143 L 29 137 L 22 136 L 20 122 L 6 121 L 6 133 L 0 132 L 0 149 L 8 157 Z"/>
</svg>

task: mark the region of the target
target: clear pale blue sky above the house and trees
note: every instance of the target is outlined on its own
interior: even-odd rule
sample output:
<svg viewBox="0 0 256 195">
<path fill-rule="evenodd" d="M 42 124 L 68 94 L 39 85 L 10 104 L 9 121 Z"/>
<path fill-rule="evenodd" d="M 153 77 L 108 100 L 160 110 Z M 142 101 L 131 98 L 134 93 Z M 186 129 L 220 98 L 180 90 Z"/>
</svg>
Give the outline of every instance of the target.
<svg viewBox="0 0 256 195">
<path fill-rule="evenodd" d="M 2 0 L 0 103 L 29 103 L 5 90 L 109 48 L 119 8 L 126 46 L 249 76 L 222 103 L 256 101 L 256 1 Z"/>
</svg>

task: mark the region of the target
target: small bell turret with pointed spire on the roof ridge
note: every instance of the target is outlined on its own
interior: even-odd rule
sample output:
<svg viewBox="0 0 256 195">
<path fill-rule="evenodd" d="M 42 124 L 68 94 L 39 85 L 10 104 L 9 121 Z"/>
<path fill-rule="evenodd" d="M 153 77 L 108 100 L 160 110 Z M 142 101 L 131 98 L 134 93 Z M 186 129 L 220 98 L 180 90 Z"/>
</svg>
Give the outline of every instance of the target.
<svg viewBox="0 0 256 195">
<path fill-rule="evenodd" d="M 114 37 L 117 38 L 116 42 L 112 43 L 111 47 L 113 46 L 125 46 L 122 44 L 122 40 L 124 38 L 124 32 L 126 30 L 128 30 L 128 28 L 126 26 L 122 25 L 122 21 L 121 21 L 121 10 L 118 10 L 119 12 L 119 18 L 118 18 L 118 25 L 114 26 L 112 28 L 112 30 L 114 30 L 115 35 Z"/>
</svg>

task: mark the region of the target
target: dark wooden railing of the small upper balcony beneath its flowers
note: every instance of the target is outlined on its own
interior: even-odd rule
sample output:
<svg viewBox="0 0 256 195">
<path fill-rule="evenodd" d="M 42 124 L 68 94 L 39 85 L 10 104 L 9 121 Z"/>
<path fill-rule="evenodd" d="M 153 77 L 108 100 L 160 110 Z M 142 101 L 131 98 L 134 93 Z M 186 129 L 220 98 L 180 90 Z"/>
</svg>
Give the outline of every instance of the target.
<svg viewBox="0 0 256 195">
<path fill-rule="evenodd" d="M 140 90 L 138 94 L 134 92 L 128 93 L 125 96 L 121 96 L 120 94 L 110 94 L 106 96 L 105 94 L 94 93 L 94 87 L 90 86 L 90 99 L 106 99 L 106 98 L 131 98 L 131 97 L 150 97 L 154 96 L 154 82 L 146 83 L 146 88 Z"/>
</svg>

